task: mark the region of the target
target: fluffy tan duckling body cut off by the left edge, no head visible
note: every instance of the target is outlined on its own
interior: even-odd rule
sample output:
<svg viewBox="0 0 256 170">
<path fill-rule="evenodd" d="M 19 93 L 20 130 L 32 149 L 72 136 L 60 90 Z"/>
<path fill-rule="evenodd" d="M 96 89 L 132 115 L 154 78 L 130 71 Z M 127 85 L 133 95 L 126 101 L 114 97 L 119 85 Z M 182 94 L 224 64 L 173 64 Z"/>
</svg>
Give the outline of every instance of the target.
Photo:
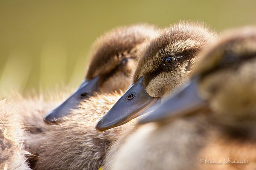
<svg viewBox="0 0 256 170">
<path fill-rule="evenodd" d="M 23 126 L 13 105 L 0 101 L 0 169 L 30 170 L 23 148 Z"/>
</svg>

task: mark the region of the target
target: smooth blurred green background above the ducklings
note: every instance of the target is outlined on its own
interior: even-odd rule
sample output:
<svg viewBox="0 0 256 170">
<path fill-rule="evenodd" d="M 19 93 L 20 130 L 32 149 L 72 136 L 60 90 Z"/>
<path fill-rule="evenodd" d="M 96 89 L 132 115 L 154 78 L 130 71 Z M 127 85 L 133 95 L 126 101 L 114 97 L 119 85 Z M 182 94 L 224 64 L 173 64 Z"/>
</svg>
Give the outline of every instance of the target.
<svg viewBox="0 0 256 170">
<path fill-rule="evenodd" d="M 0 93 L 70 85 L 94 40 L 116 26 L 199 20 L 216 31 L 256 23 L 255 0 L 1 0 Z"/>
</svg>

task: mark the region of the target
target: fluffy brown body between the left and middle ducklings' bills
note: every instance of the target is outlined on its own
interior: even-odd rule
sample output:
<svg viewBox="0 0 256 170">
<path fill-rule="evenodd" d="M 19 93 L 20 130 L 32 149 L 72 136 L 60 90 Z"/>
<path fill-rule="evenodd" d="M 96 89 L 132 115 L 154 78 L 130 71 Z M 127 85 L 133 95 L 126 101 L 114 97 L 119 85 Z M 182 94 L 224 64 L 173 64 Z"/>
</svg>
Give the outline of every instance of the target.
<svg viewBox="0 0 256 170">
<path fill-rule="evenodd" d="M 98 170 L 105 159 L 106 150 L 119 135 L 131 128 L 127 126 L 97 133 L 95 122 L 120 97 L 120 94 L 96 95 L 81 103 L 80 109 L 52 125 L 37 147 L 30 151 L 39 156 L 35 170 L 84 169 Z"/>
</svg>

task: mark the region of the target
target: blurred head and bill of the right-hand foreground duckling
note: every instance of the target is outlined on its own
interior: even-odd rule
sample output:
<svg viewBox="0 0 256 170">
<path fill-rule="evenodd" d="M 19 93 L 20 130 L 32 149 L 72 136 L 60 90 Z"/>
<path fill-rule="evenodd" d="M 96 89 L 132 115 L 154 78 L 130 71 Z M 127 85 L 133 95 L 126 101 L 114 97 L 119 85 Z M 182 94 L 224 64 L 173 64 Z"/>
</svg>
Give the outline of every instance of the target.
<svg viewBox="0 0 256 170">
<path fill-rule="evenodd" d="M 140 123 L 209 109 L 205 113 L 212 113 L 224 125 L 255 124 L 256 27 L 228 32 L 204 50 L 191 82 Z"/>
</svg>

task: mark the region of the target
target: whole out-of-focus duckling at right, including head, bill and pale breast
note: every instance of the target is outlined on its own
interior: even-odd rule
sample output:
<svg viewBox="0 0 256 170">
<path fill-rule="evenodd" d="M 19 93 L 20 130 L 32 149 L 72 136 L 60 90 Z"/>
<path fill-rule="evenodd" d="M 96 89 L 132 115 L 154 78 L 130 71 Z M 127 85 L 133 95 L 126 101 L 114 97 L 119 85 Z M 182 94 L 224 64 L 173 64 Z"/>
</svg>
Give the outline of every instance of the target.
<svg viewBox="0 0 256 170">
<path fill-rule="evenodd" d="M 112 170 L 256 168 L 256 27 L 229 31 L 203 55 L 191 82 L 140 120 L 151 123 Z"/>
</svg>

